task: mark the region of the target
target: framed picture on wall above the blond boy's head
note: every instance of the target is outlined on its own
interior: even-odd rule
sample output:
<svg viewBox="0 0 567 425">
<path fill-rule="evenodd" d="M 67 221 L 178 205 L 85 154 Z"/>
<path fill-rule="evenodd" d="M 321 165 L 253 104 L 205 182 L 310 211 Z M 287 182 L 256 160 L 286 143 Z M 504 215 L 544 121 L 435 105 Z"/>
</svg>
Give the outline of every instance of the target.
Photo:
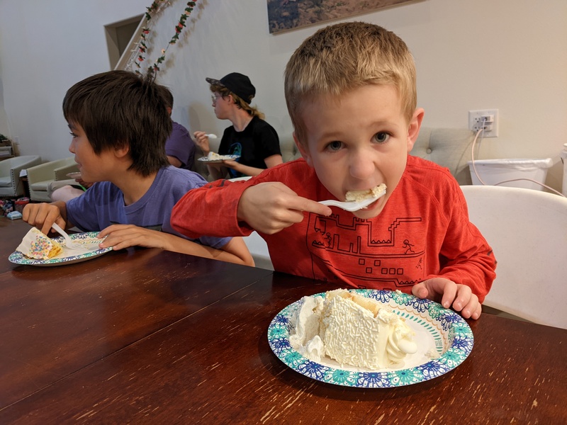
<svg viewBox="0 0 567 425">
<path fill-rule="evenodd" d="M 271 34 L 415 0 L 267 0 Z"/>
</svg>

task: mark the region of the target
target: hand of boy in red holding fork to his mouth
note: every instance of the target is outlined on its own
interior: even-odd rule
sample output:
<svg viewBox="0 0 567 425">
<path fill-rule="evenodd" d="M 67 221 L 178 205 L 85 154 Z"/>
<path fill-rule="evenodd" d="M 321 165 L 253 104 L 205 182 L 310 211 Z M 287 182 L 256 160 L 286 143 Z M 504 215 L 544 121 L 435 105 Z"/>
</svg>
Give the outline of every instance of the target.
<svg viewBox="0 0 567 425">
<path fill-rule="evenodd" d="M 332 210 L 301 198 L 283 183 L 266 182 L 247 188 L 238 203 L 238 220 L 258 232 L 274 234 L 303 220 L 303 212 L 331 215 Z"/>
</svg>

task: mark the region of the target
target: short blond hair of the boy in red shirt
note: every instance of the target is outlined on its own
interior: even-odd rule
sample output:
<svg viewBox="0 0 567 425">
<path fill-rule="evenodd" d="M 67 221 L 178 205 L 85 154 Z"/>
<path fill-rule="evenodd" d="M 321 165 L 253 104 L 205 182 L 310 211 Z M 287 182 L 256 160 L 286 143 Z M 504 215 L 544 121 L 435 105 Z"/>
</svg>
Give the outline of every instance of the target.
<svg viewBox="0 0 567 425">
<path fill-rule="evenodd" d="M 305 100 L 340 96 L 369 84 L 395 86 L 410 121 L 417 106 L 415 62 L 398 35 L 371 23 L 347 22 L 322 28 L 303 41 L 285 71 L 286 103 L 298 140 L 305 140 Z"/>
</svg>

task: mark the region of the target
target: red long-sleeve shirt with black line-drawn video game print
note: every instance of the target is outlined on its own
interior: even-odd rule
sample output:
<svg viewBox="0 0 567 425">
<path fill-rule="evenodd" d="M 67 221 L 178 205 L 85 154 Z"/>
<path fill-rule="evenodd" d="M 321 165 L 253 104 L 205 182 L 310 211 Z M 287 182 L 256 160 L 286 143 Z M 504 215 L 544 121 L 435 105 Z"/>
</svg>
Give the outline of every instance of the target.
<svg viewBox="0 0 567 425">
<path fill-rule="evenodd" d="M 299 159 L 267 169 L 248 181 L 215 181 L 193 189 L 172 213 L 172 226 L 189 237 L 247 236 L 237 221 L 242 192 L 279 181 L 298 196 L 333 196 L 313 168 Z M 468 285 L 482 302 L 495 278 L 496 261 L 481 232 L 468 220 L 459 184 L 449 170 L 408 156 L 400 183 L 378 217 L 359 219 L 332 208 L 330 217 L 304 212 L 301 223 L 276 234 L 260 234 L 274 269 L 355 288 L 399 289 L 443 277 Z"/>
</svg>

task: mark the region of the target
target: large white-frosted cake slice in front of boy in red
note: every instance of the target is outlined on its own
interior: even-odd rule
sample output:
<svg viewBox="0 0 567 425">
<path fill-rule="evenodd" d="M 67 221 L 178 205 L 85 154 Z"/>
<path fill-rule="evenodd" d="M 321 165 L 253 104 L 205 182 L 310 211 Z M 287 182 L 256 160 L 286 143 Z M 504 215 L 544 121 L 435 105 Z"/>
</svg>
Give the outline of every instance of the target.
<svg viewBox="0 0 567 425">
<path fill-rule="evenodd" d="M 327 292 L 324 301 L 319 297 L 322 305 L 309 298 L 292 321 L 289 341 L 313 361 L 327 356 L 340 365 L 378 370 L 417 351 L 405 320 L 376 300 L 343 289 Z"/>
</svg>

